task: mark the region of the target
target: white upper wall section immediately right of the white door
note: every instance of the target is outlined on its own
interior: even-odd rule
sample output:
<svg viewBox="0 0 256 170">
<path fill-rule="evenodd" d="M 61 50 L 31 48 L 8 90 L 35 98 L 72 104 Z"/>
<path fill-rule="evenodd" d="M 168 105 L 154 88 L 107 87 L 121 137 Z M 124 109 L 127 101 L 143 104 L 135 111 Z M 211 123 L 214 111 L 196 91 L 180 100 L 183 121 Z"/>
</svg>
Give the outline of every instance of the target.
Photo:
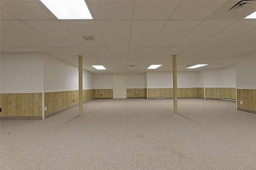
<svg viewBox="0 0 256 170">
<path fill-rule="evenodd" d="M 126 88 L 146 88 L 145 74 L 126 74 Z"/>
</svg>

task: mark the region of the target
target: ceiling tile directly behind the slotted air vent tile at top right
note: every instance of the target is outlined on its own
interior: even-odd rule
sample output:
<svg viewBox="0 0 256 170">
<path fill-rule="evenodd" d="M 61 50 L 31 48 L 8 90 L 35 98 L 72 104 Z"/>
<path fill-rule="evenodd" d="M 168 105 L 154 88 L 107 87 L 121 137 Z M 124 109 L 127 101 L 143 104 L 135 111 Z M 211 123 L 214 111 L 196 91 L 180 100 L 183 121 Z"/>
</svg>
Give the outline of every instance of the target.
<svg viewBox="0 0 256 170">
<path fill-rule="evenodd" d="M 200 23 L 188 35 L 183 37 L 175 47 L 194 47 L 222 29 L 228 27 L 235 21 L 233 20 L 206 20 Z"/>
</svg>

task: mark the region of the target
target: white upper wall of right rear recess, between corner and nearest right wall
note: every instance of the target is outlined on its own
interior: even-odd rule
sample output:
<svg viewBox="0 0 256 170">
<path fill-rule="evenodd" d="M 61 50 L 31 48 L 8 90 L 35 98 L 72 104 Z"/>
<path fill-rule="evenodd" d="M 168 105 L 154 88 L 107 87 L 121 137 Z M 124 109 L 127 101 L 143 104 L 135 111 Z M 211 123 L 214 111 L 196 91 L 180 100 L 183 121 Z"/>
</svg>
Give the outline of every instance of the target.
<svg viewBox="0 0 256 170">
<path fill-rule="evenodd" d="M 200 80 L 204 77 L 204 87 L 236 87 L 236 67 L 200 71 Z"/>
</svg>

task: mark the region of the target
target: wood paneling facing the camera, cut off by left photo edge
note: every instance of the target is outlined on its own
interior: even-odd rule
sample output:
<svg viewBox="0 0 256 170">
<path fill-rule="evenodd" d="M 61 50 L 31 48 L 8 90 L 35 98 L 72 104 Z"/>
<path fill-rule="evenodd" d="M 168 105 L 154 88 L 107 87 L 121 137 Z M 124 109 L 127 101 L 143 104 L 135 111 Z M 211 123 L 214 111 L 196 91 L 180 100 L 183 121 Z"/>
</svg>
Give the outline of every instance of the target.
<svg viewBox="0 0 256 170">
<path fill-rule="evenodd" d="M 42 116 L 42 93 L 1 94 L 1 116 Z"/>
</svg>

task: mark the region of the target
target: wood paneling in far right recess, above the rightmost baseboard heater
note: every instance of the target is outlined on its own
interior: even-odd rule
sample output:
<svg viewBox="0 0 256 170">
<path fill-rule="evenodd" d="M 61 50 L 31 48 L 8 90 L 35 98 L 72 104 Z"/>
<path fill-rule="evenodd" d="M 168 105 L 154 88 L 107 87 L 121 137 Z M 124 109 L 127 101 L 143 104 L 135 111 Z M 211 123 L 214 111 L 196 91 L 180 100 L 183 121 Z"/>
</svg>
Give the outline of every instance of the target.
<svg viewBox="0 0 256 170">
<path fill-rule="evenodd" d="M 205 97 L 213 99 L 236 99 L 235 88 L 205 88 Z"/>
</svg>

